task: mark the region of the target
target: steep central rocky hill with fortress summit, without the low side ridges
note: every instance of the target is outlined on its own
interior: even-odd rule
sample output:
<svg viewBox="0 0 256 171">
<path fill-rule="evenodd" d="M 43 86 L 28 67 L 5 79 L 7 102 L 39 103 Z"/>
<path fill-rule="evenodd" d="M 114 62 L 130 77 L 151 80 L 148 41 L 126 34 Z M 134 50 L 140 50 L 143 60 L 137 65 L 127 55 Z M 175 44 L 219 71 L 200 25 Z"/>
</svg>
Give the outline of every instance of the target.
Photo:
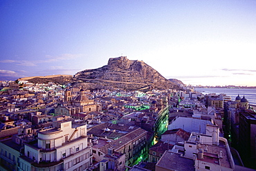
<svg viewBox="0 0 256 171">
<path fill-rule="evenodd" d="M 129 60 L 127 57 L 110 58 L 107 66 L 77 72 L 74 79 L 90 83 L 91 86 L 95 84 L 102 88 L 125 90 L 179 88 L 143 61 Z"/>
</svg>

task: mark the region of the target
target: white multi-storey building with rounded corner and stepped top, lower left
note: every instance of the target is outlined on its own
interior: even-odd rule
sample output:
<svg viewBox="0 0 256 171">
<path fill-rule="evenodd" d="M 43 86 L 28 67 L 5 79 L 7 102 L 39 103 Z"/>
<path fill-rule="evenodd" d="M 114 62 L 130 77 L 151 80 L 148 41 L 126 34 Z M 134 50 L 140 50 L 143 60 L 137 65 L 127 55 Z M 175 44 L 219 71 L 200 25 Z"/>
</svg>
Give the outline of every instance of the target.
<svg viewBox="0 0 256 171">
<path fill-rule="evenodd" d="M 86 170 L 92 164 L 86 125 L 55 121 L 55 128 L 40 130 L 37 143 L 26 143 L 21 170 Z M 29 167 L 28 165 L 31 165 Z"/>
</svg>

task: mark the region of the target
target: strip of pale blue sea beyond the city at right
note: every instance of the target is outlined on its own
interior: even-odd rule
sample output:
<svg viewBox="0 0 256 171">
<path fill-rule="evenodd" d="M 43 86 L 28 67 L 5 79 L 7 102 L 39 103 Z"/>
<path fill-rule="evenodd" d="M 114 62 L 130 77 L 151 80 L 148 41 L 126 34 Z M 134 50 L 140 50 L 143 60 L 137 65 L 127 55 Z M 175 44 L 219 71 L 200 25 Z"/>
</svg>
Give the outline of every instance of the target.
<svg viewBox="0 0 256 171">
<path fill-rule="evenodd" d="M 235 101 L 235 98 L 239 94 L 241 98 L 245 97 L 249 104 L 256 105 L 256 89 L 250 88 L 194 88 L 196 92 L 201 92 L 203 94 L 226 94 L 232 98 L 232 101 Z"/>
</svg>

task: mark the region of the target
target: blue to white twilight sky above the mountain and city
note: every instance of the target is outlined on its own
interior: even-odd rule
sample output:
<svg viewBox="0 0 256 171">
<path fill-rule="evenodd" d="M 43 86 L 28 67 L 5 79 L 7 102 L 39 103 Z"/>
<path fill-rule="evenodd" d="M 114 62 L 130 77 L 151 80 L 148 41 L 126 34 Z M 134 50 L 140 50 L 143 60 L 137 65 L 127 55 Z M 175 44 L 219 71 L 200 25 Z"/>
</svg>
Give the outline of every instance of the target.
<svg viewBox="0 0 256 171">
<path fill-rule="evenodd" d="M 255 0 L 1 0 L 0 80 L 140 60 L 187 85 L 256 86 Z"/>
</svg>

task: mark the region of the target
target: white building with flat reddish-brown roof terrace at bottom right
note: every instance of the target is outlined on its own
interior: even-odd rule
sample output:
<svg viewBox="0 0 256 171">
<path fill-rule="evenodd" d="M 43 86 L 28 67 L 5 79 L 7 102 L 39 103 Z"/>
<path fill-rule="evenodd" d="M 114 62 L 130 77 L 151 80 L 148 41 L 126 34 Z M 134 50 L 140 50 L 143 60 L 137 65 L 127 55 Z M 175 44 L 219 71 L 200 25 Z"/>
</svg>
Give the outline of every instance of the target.
<svg viewBox="0 0 256 171">
<path fill-rule="evenodd" d="M 194 160 L 195 170 L 234 170 L 228 141 L 219 137 L 219 127 L 207 125 L 206 130 L 206 134 L 192 132 L 184 144 L 184 157 Z"/>
</svg>

